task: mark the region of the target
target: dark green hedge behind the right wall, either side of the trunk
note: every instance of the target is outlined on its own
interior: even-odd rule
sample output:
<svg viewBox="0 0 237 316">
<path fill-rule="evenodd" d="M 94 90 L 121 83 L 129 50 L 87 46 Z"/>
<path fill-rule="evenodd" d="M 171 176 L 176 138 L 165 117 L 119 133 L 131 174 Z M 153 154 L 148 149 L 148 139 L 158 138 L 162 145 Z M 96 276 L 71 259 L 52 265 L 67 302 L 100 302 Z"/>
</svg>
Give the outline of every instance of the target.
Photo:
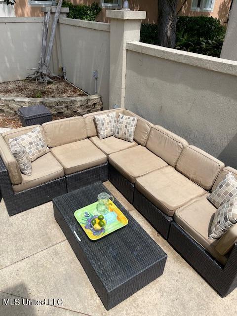
<svg viewBox="0 0 237 316">
<path fill-rule="evenodd" d="M 208 16 L 178 16 L 176 49 L 220 57 L 226 28 L 218 19 Z M 158 25 L 143 24 L 141 41 L 158 43 Z"/>
</svg>

